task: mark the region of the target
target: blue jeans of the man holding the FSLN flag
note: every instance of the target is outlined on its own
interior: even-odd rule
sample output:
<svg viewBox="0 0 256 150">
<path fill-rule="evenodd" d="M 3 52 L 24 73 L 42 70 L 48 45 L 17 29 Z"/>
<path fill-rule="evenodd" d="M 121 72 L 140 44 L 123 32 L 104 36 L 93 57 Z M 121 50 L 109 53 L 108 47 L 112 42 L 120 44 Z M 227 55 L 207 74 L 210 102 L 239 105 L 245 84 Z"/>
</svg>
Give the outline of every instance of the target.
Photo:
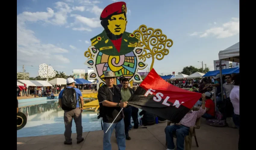
<svg viewBox="0 0 256 150">
<path fill-rule="evenodd" d="M 123 119 L 120 122 L 113 123 L 113 125 L 108 130 L 108 127 L 111 125 L 111 123 L 103 123 L 103 131 L 104 131 L 104 137 L 103 137 L 103 150 L 111 150 L 111 134 L 113 130 L 116 130 L 117 134 L 117 145 L 118 150 L 125 150 L 125 133 L 124 133 L 124 122 Z M 108 130 L 107 133 L 105 133 Z"/>
</svg>

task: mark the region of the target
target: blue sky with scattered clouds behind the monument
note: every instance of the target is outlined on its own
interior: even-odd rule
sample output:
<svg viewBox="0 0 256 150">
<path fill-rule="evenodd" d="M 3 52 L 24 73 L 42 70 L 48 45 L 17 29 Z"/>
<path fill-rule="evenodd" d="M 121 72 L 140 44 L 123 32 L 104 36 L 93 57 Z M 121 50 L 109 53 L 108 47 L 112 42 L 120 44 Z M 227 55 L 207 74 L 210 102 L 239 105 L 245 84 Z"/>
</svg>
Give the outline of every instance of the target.
<svg viewBox="0 0 256 150">
<path fill-rule="evenodd" d="M 85 69 L 90 38 L 103 31 L 99 16 L 115 0 L 17 1 L 17 72 L 30 77 L 39 64 L 72 74 Z M 218 52 L 239 42 L 239 0 L 126 0 L 127 32 L 140 25 L 161 29 L 173 40 L 169 55 L 155 61 L 158 74 L 171 74 L 203 61 L 214 70 Z M 151 60 L 146 61 L 149 66 Z"/>
</svg>

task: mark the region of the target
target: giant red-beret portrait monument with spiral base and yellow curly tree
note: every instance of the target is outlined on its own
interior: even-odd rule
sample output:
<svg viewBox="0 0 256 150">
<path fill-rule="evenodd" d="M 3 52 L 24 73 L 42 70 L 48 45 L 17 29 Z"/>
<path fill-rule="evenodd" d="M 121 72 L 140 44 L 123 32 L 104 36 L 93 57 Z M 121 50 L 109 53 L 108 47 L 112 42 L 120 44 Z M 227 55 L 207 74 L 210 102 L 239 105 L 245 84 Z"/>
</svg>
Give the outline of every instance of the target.
<svg viewBox="0 0 256 150">
<path fill-rule="evenodd" d="M 162 60 L 168 55 L 173 45 L 171 39 L 162 34 L 161 29 L 147 28 L 141 25 L 133 33 L 126 32 L 126 3 L 115 2 L 101 13 L 101 25 L 104 30 L 91 39 L 92 45 L 84 53 L 85 64 L 94 69 L 88 74 L 88 79 L 98 79 L 97 89 L 105 84 L 104 73 L 113 71 L 117 77 L 114 84 L 119 84 L 119 78 L 124 76 L 130 84 L 142 82 L 138 70 L 147 67 L 146 58 L 152 57 L 150 70 L 155 58 Z M 151 48 L 152 47 L 152 48 Z"/>
</svg>

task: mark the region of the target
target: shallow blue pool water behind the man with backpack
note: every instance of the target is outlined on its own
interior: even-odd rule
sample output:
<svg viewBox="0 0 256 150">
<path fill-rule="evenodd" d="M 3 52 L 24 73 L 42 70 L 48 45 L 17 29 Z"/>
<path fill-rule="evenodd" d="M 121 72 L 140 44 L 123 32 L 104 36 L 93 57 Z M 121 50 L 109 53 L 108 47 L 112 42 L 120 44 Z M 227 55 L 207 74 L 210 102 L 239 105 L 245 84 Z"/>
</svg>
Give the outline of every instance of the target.
<svg viewBox="0 0 256 150">
<path fill-rule="evenodd" d="M 64 134 L 64 111 L 59 107 L 57 99 L 38 101 L 37 104 L 35 102 L 21 102 L 19 107 L 19 111 L 27 116 L 27 124 L 17 131 L 17 137 Z M 97 112 L 83 111 L 83 132 L 101 130 L 101 122 L 97 116 Z M 72 122 L 72 132 L 76 133 L 74 121 Z"/>
</svg>

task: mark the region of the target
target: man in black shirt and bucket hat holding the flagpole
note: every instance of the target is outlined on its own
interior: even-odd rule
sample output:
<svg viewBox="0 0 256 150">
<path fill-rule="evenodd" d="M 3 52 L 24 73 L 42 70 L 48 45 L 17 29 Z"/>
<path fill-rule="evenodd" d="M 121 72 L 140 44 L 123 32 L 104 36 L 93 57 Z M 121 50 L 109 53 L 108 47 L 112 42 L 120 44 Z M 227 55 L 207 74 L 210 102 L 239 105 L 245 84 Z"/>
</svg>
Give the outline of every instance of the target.
<svg viewBox="0 0 256 150">
<path fill-rule="evenodd" d="M 124 133 L 124 121 L 123 113 L 119 113 L 121 108 L 127 106 L 127 102 L 122 102 L 120 88 L 114 85 L 114 79 L 117 76 L 112 71 L 106 71 L 103 77 L 105 85 L 102 85 L 98 89 L 98 101 L 99 101 L 99 116 L 103 120 L 103 149 L 111 149 L 111 134 L 115 129 L 117 134 L 117 145 L 119 150 L 125 150 L 125 133 Z M 119 114 L 118 114 L 119 113 Z M 115 119 L 116 118 L 116 119 Z M 115 119 L 115 121 L 114 121 Z M 114 121 L 112 126 L 111 123 Z M 108 130 L 108 128 L 110 129 Z M 108 132 L 106 133 L 106 131 Z"/>
</svg>

